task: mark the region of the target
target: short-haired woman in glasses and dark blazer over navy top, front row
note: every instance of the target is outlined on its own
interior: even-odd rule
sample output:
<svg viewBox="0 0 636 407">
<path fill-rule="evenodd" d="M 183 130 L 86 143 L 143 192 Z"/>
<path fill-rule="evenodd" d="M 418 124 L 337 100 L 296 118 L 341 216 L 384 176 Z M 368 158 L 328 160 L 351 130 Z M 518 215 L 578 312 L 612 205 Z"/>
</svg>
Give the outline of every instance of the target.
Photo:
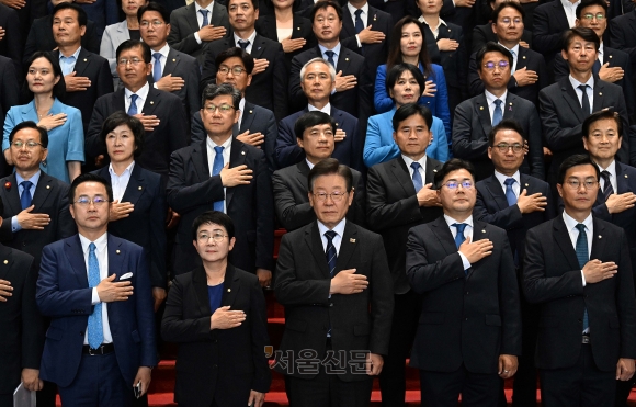
<svg viewBox="0 0 636 407">
<path fill-rule="evenodd" d="M 168 294 L 161 336 L 179 343 L 181 407 L 261 407 L 270 389 L 265 297 L 254 274 L 227 261 L 234 235 L 222 212 L 196 217 L 192 240 L 203 265 L 178 275 Z"/>
</svg>

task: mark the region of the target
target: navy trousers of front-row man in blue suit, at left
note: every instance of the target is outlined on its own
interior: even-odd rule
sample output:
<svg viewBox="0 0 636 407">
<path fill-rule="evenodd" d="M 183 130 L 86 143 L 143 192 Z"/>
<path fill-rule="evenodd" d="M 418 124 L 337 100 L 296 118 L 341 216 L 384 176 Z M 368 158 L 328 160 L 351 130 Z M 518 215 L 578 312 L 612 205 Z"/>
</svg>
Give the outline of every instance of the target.
<svg viewBox="0 0 636 407">
<path fill-rule="evenodd" d="M 58 391 L 63 406 L 72 407 L 130 407 L 134 398 L 133 384 L 124 381 L 115 352 L 82 355 L 73 382 Z"/>
</svg>

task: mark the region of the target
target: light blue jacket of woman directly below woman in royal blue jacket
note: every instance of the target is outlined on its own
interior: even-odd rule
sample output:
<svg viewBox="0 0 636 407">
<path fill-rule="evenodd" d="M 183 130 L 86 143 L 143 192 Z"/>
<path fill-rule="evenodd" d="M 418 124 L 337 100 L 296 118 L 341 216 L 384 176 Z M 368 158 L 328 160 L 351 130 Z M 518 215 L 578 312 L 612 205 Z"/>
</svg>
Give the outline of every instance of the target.
<svg viewBox="0 0 636 407">
<path fill-rule="evenodd" d="M 400 155 L 400 149 L 393 139 L 393 116 L 395 111 L 396 109 L 394 108 L 386 113 L 368 117 L 362 156 L 364 165 L 368 168 L 376 163 L 390 161 Z M 446 140 L 444 124 L 435 116 L 433 116 L 431 133 L 433 133 L 433 142 L 427 148 L 427 157 L 444 162 L 448 159 L 448 142 Z"/>
</svg>

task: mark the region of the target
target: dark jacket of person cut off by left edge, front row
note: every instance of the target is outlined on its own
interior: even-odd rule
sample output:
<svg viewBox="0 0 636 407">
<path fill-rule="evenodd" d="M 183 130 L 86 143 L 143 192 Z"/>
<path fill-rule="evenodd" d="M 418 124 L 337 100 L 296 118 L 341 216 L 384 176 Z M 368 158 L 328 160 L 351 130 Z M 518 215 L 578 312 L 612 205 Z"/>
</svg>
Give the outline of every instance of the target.
<svg viewBox="0 0 636 407">
<path fill-rule="evenodd" d="M 0 259 L 0 280 L 13 287 L 0 307 L 0 394 L 4 396 L 20 384 L 22 369 L 39 370 L 45 328 L 35 304 L 38 264 L 32 256 L 2 245 Z"/>
</svg>

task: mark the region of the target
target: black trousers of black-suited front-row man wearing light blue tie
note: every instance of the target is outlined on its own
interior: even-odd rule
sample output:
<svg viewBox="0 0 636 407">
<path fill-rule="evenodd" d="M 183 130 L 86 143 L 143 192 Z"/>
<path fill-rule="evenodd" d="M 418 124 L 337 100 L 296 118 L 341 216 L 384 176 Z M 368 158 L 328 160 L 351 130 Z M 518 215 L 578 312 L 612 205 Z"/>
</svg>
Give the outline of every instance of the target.
<svg viewBox="0 0 636 407">
<path fill-rule="evenodd" d="M 501 378 L 497 373 L 472 373 L 462 365 L 454 372 L 420 371 L 422 406 L 497 407 L 501 392 Z"/>
</svg>

